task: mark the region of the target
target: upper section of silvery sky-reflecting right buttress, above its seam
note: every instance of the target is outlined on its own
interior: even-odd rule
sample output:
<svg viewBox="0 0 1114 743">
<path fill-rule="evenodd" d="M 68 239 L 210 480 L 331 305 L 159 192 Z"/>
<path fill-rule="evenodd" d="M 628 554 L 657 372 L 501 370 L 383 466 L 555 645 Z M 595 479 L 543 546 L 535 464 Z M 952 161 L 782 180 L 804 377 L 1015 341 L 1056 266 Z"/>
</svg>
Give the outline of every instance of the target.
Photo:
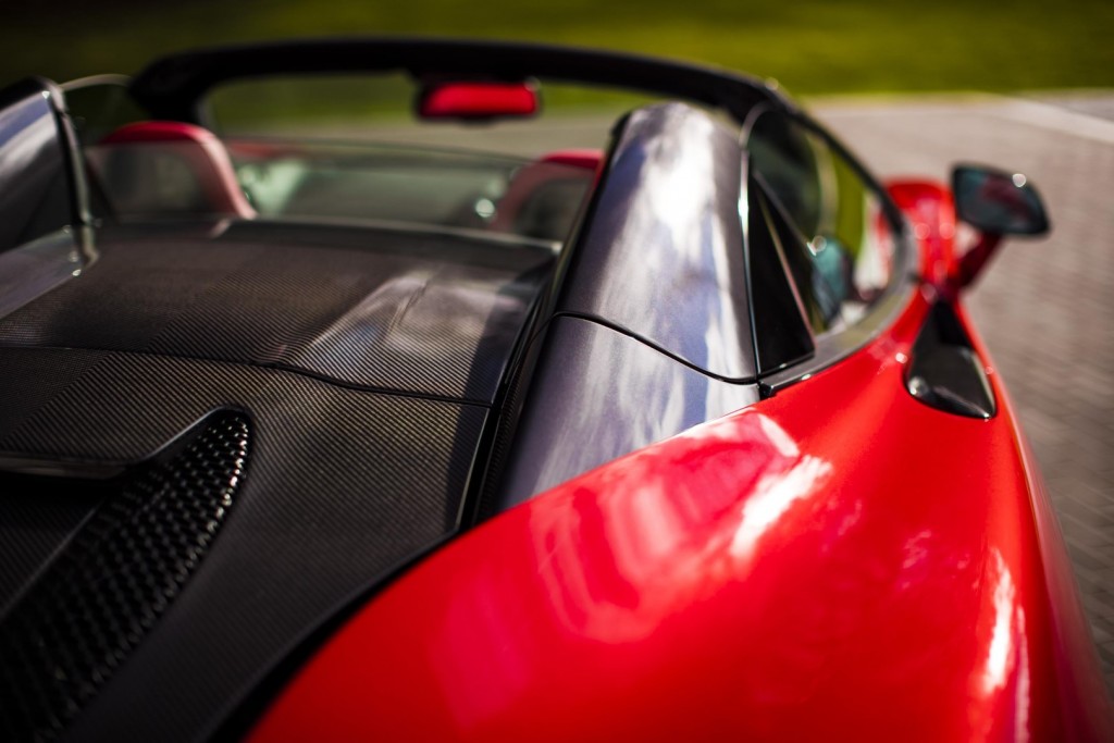
<svg viewBox="0 0 1114 743">
<path fill-rule="evenodd" d="M 724 381 L 753 382 L 737 134 L 673 102 L 632 111 L 617 136 L 557 312 L 597 317 Z"/>
</svg>

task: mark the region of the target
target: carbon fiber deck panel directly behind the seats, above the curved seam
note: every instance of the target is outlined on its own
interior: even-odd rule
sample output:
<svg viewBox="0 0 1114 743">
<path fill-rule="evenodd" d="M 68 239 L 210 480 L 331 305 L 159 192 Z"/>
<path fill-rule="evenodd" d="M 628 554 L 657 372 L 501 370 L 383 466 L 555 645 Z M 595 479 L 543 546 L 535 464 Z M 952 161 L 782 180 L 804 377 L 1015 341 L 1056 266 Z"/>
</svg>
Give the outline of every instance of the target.
<svg viewBox="0 0 1114 743">
<path fill-rule="evenodd" d="M 266 228 L 214 241 L 124 231 L 80 277 L 0 319 L 0 344 L 273 365 L 489 403 L 551 256 L 361 234 L 336 245 L 325 228 L 303 244 L 260 242 Z"/>
</svg>

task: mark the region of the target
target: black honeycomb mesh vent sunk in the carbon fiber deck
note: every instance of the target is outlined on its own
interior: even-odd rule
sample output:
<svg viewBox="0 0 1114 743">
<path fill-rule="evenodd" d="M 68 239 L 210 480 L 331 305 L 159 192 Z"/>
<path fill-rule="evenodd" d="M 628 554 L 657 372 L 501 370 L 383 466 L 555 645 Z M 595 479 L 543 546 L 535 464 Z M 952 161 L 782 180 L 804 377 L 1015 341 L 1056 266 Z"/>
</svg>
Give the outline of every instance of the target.
<svg viewBox="0 0 1114 743">
<path fill-rule="evenodd" d="M 0 737 L 51 740 L 197 568 L 244 479 L 248 420 L 208 417 L 125 476 L 0 626 Z"/>
</svg>

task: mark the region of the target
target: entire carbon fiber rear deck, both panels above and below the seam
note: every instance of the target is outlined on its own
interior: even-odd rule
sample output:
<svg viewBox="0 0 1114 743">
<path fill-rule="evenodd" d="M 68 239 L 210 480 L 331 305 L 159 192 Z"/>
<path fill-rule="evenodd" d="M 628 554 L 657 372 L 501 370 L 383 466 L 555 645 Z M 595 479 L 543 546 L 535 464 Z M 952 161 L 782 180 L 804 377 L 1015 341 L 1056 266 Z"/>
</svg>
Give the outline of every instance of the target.
<svg viewBox="0 0 1114 743">
<path fill-rule="evenodd" d="M 111 678 L 70 697 L 80 712 L 65 698 L 61 714 L 50 707 L 51 730 L 72 717 L 63 737 L 212 733 L 321 622 L 452 534 L 550 261 L 452 239 L 438 261 L 432 238 L 390 235 L 370 250 L 367 231 L 285 245 L 266 244 L 266 228 L 175 234 L 120 233 L 84 275 L 0 319 L 0 470 L 53 471 L 74 496 L 58 501 L 20 476 L 31 485 L 6 504 L 19 518 L 0 524 L 0 540 L 49 529 L 23 534 L 31 557 L 0 576 L 0 644 L 26 645 L 26 623 L 10 619 L 60 558 L 37 563 L 65 556 L 82 512 L 114 498 L 115 480 L 74 478 L 141 468 L 216 410 L 252 430 L 219 538 Z M 55 616 L 40 624 L 69 626 L 80 609 L 47 605 Z"/>
</svg>

